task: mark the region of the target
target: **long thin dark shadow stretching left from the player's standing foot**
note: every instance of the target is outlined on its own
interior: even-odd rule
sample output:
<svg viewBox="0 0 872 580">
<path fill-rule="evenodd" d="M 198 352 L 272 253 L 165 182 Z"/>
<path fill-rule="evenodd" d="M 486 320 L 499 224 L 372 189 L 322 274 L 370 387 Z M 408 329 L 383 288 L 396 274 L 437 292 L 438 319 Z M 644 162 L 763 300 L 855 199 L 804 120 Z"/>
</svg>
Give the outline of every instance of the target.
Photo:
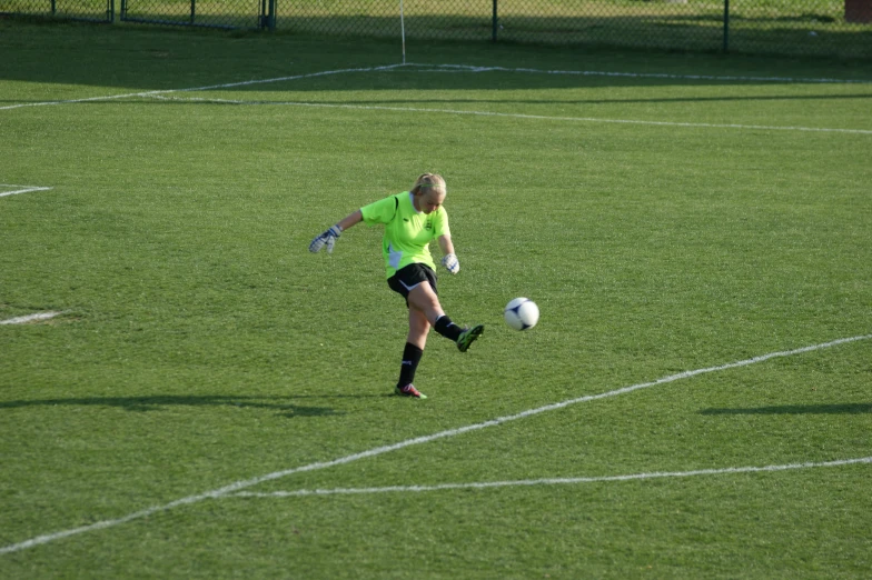
<svg viewBox="0 0 872 580">
<path fill-rule="evenodd" d="M 24 407 L 116 407 L 126 411 L 149 412 L 157 411 L 167 407 L 236 407 L 242 409 L 266 409 L 278 412 L 288 418 L 297 417 L 327 417 L 344 414 L 329 407 L 308 407 L 283 402 L 290 399 L 303 397 L 256 397 L 245 394 L 155 394 L 145 397 L 82 397 L 71 399 L 40 399 L 31 401 L 0 401 L 0 409 L 20 409 Z M 319 399 L 330 397 L 357 397 L 357 396 L 324 396 Z"/>
</svg>

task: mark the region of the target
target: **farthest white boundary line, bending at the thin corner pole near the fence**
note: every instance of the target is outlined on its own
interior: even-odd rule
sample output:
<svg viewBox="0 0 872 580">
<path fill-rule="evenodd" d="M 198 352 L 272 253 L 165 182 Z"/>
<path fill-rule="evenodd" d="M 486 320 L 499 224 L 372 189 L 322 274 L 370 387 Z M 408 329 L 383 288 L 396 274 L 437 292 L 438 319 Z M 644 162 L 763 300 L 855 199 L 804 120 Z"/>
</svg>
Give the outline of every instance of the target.
<svg viewBox="0 0 872 580">
<path fill-rule="evenodd" d="M 503 71 L 503 72 L 524 72 L 524 73 L 538 73 L 538 74 L 568 74 L 568 76 L 586 76 L 586 77 L 617 77 L 617 78 L 638 78 L 638 79 L 672 79 L 672 80 L 713 80 L 713 81 L 722 81 L 722 82 L 783 82 L 783 83 L 832 83 L 832 84 L 864 84 L 872 82 L 870 80 L 863 79 L 803 79 L 803 78 L 792 78 L 792 77 L 741 77 L 741 76 L 724 76 L 717 77 L 713 74 L 671 74 L 671 73 L 662 73 L 662 72 L 610 72 L 610 71 L 595 71 L 595 70 L 539 70 L 539 69 L 524 69 L 524 68 L 503 68 L 503 67 L 472 67 L 466 64 L 416 64 L 416 63 L 397 63 L 397 64 L 385 64 L 382 67 L 366 67 L 366 68 L 357 68 L 357 69 L 337 69 L 337 70 L 327 70 L 321 72 L 310 72 L 306 74 L 293 74 L 288 77 L 275 77 L 271 79 L 257 79 L 257 80 L 249 80 L 249 81 L 240 81 L 240 82 L 226 82 L 220 84 L 209 84 L 205 87 L 192 87 L 188 89 L 165 89 L 165 90 L 153 90 L 153 91 L 141 91 L 141 92 L 128 92 L 123 94 L 108 94 L 101 97 L 88 97 L 83 99 L 67 99 L 62 101 L 42 101 L 42 102 L 27 102 L 27 103 L 18 103 L 18 104 L 7 104 L 4 107 L 0 107 L 0 111 L 9 110 L 9 109 L 21 109 L 24 107 L 48 107 L 53 104 L 75 104 L 75 103 L 82 103 L 82 102 L 93 102 L 93 101 L 109 101 L 113 99 L 130 99 L 135 97 L 150 97 L 155 94 L 168 94 L 174 92 L 191 92 L 191 91 L 207 91 L 207 90 L 217 90 L 217 89 L 231 89 L 235 87 L 249 87 L 252 84 L 265 84 L 270 82 L 283 82 L 283 81 L 291 81 L 291 80 L 299 80 L 299 79 L 307 79 L 313 77 L 326 77 L 329 74 L 343 74 L 343 73 L 350 73 L 350 72 L 373 72 L 373 71 L 390 71 L 398 68 L 420 68 L 427 67 L 425 71 L 429 72 L 432 70 L 436 71 L 444 71 L 444 72 L 488 72 L 488 71 Z"/>
</svg>

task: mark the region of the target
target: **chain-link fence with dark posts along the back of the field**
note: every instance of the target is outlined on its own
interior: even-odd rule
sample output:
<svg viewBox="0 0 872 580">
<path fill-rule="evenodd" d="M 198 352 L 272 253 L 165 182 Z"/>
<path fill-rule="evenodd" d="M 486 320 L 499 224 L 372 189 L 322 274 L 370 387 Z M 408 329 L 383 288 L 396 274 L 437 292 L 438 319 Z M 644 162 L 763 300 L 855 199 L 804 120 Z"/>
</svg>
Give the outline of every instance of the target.
<svg viewBox="0 0 872 580">
<path fill-rule="evenodd" d="M 872 0 L 0 0 L 103 22 L 872 58 Z"/>
</svg>

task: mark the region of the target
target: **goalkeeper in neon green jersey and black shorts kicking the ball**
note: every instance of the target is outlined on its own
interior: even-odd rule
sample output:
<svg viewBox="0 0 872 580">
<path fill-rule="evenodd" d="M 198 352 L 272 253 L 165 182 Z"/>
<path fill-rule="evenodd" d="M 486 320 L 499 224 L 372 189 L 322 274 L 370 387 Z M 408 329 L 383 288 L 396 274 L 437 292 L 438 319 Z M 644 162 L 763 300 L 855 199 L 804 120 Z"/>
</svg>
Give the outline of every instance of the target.
<svg viewBox="0 0 872 580">
<path fill-rule="evenodd" d="M 397 394 L 405 397 L 427 398 L 412 381 L 415 380 L 430 327 L 454 341 L 460 352 L 466 352 L 484 330 L 482 324 L 458 327 L 439 304 L 435 266 L 429 251 L 430 240 L 435 238 L 439 243 L 444 254 L 442 264 L 453 274 L 460 271 L 448 229 L 448 214 L 443 208 L 446 194 L 442 176 L 424 173 L 415 181 L 412 190 L 364 206 L 309 244 L 310 252 L 326 248 L 327 253 L 330 253 L 336 238 L 351 226 L 361 221 L 367 226 L 385 226 L 382 252 L 387 268 L 387 286 L 403 294 L 409 314 L 409 331 L 397 382 Z"/>
</svg>

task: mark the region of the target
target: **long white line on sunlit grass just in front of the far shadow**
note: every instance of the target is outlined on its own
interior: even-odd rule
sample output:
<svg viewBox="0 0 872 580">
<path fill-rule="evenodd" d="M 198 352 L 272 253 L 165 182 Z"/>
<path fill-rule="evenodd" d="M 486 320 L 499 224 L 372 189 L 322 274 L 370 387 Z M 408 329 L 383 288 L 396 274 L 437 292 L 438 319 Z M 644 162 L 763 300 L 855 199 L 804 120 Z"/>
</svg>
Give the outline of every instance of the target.
<svg viewBox="0 0 872 580">
<path fill-rule="evenodd" d="M 621 123 L 621 124 L 648 124 L 658 127 L 688 127 L 706 129 L 751 129 L 764 131 L 810 131 L 823 133 L 854 133 L 872 134 L 872 129 L 832 129 L 825 127 L 779 127 L 770 124 L 735 124 L 735 123 L 688 123 L 677 121 L 640 121 L 633 119 L 600 119 L 595 117 L 551 117 L 546 114 L 524 114 L 524 113 L 501 113 L 492 111 L 468 111 L 460 109 L 430 109 L 420 107 L 386 107 L 378 104 L 339 104 L 325 102 L 300 102 L 300 101 L 240 101 L 232 99 L 207 99 L 200 97 L 165 97 L 162 94 L 149 94 L 148 97 L 161 100 L 172 100 L 182 102 L 211 102 L 216 104 L 272 104 L 286 107 L 319 107 L 331 109 L 363 109 L 370 111 L 397 111 L 397 112 L 426 112 L 444 114 L 472 114 L 477 117 L 502 117 L 511 119 L 535 119 L 544 121 L 575 121 L 586 123 Z"/>
</svg>

